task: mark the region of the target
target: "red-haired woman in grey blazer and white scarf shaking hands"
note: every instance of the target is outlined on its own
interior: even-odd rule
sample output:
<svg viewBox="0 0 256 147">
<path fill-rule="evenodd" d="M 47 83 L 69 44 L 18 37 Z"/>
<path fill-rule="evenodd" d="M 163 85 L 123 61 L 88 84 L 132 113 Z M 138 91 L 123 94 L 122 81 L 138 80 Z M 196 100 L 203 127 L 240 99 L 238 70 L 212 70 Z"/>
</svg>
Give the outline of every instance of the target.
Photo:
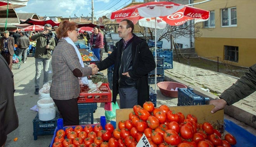
<svg viewBox="0 0 256 147">
<path fill-rule="evenodd" d="M 59 109 L 64 126 L 79 125 L 77 97 L 80 94 L 79 77 L 89 76 L 98 72 L 95 64 L 84 67 L 78 48 L 78 25 L 67 20 L 57 28 L 59 43 L 52 54 L 52 83 L 50 96 Z"/>
</svg>

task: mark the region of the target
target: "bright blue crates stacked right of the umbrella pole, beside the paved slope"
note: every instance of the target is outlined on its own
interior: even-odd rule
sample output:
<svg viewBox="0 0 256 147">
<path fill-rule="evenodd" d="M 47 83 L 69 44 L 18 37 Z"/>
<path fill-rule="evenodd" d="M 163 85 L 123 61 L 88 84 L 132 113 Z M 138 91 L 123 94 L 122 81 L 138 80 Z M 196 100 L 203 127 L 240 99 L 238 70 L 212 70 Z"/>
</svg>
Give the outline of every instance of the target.
<svg viewBox="0 0 256 147">
<path fill-rule="evenodd" d="M 154 56 L 157 55 L 157 56 L 164 58 L 164 64 L 163 64 L 164 69 L 172 69 L 173 68 L 173 50 L 168 49 L 167 51 L 165 51 L 162 49 L 161 50 L 158 49 L 156 51 L 156 53 L 153 52 L 153 55 Z"/>
</svg>

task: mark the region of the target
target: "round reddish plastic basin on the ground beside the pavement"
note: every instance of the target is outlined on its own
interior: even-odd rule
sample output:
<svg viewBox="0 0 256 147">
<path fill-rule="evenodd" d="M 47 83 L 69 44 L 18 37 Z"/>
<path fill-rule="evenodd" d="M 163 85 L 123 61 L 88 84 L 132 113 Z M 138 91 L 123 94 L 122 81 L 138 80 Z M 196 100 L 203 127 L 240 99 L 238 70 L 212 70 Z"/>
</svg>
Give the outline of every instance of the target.
<svg viewBox="0 0 256 147">
<path fill-rule="evenodd" d="M 171 89 L 176 89 L 176 87 L 178 88 L 187 88 L 186 85 L 177 83 L 177 82 L 159 82 L 157 83 L 157 86 L 160 89 L 160 92 L 164 95 L 164 96 L 168 96 L 168 97 L 178 97 L 178 91 L 171 91 Z"/>
</svg>

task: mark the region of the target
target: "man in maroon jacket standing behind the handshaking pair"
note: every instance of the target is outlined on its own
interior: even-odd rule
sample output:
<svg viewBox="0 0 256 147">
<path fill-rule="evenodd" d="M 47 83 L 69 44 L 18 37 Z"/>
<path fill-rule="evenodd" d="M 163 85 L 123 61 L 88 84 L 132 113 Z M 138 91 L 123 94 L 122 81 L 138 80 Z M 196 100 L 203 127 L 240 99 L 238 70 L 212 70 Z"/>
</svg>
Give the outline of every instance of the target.
<svg viewBox="0 0 256 147">
<path fill-rule="evenodd" d="M 99 61 L 102 61 L 102 56 L 100 57 L 100 50 L 101 49 L 103 50 L 104 48 L 103 35 L 99 33 L 99 29 L 97 27 L 93 27 L 93 33 L 90 39 L 90 45 L 94 55 L 98 58 Z"/>
</svg>

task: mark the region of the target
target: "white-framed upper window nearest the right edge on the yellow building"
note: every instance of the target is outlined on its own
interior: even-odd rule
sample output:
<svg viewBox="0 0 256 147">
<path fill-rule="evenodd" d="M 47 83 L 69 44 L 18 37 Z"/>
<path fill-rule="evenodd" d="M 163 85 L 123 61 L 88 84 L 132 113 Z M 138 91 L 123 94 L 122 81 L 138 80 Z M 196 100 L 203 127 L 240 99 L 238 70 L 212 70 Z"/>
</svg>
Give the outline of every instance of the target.
<svg viewBox="0 0 256 147">
<path fill-rule="evenodd" d="M 221 26 L 237 26 L 237 7 L 221 9 Z"/>
</svg>

